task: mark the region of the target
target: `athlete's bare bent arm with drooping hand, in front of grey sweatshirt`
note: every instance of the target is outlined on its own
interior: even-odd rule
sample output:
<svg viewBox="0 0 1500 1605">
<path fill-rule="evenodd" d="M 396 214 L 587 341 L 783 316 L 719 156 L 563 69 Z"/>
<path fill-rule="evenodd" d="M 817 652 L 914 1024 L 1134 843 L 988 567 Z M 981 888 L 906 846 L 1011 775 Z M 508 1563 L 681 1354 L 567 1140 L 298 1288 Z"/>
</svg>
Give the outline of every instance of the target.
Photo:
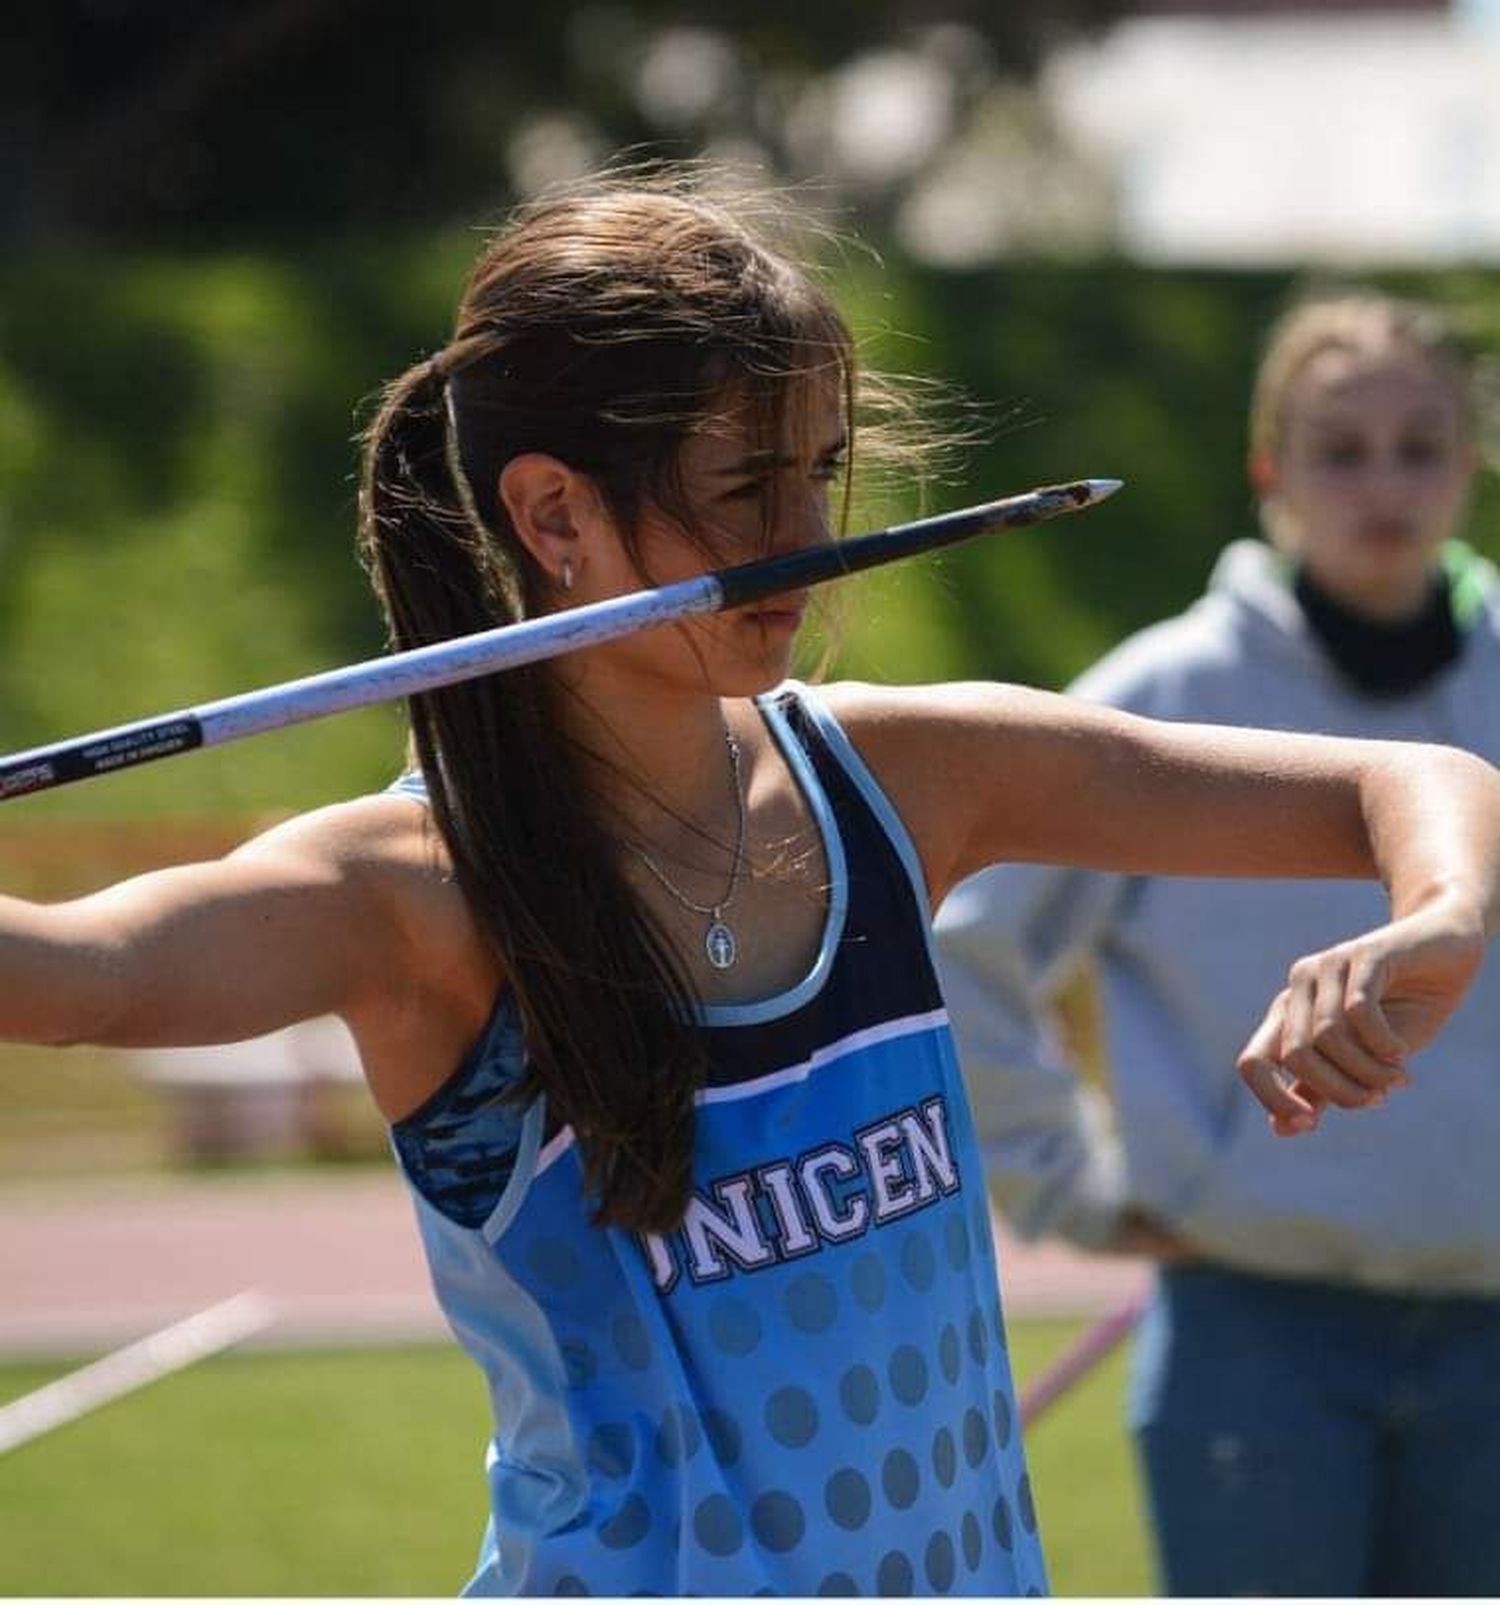
<svg viewBox="0 0 1500 1605">
<path fill-rule="evenodd" d="M 1001 860 L 1133 875 L 1378 876 L 1391 921 L 1295 961 L 1242 1074 L 1277 1130 L 1405 1080 L 1500 924 L 1500 774 L 1452 748 L 1139 719 L 996 685 L 833 701 L 934 905 Z"/>
</svg>

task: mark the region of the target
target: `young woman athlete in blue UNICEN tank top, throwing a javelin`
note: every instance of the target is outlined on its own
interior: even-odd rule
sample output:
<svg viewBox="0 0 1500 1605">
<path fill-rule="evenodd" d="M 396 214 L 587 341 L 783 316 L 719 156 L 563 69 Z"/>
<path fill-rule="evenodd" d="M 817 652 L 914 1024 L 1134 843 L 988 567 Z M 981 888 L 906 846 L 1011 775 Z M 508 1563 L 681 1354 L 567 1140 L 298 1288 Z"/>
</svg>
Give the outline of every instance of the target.
<svg viewBox="0 0 1500 1605">
<path fill-rule="evenodd" d="M 393 645 L 831 539 L 860 395 L 826 295 L 732 207 L 528 207 L 369 433 Z M 1380 875 L 1391 920 L 1304 957 L 1247 1051 L 1285 1125 L 1397 1085 L 1495 918 L 1473 758 L 812 690 L 805 605 L 420 697 L 385 794 L 0 900 L 0 1035 L 350 1024 L 493 1396 L 475 1592 L 1044 1587 L 929 952 L 963 876 Z"/>
</svg>

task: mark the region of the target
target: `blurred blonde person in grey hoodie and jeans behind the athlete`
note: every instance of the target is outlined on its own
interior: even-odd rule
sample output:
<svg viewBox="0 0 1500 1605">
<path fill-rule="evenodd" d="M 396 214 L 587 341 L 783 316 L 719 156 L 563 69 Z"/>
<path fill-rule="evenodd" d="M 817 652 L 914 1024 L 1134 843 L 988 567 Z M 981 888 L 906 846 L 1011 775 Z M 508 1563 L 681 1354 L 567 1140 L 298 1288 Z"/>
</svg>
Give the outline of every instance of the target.
<svg viewBox="0 0 1500 1605">
<path fill-rule="evenodd" d="M 1436 308 L 1293 307 L 1251 408 L 1266 541 L 1072 690 L 1500 759 L 1500 586 L 1458 541 L 1478 406 Z M 1288 961 L 1378 908 L 1349 881 L 1007 865 L 939 921 L 1009 1220 L 1158 1262 L 1129 1422 L 1173 1594 L 1500 1594 L 1500 974 L 1378 1117 L 1287 1143 L 1235 1072 Z M 1049 1024 L 1080 973 L 1113 1119 Z"/>
</svg>

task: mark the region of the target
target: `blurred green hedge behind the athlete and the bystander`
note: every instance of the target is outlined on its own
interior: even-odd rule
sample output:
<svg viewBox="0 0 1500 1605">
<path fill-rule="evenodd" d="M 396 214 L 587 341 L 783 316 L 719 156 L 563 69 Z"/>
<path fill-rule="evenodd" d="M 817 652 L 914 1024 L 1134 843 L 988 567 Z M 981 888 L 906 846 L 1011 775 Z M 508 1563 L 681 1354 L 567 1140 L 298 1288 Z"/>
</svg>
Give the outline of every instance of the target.
<svg viewBox="0 0 1500 1605">
<path fill-rule="evenodd" d="M 353 433 L 382 379 L 443 339 L 473 239 L 297 250 L 32 254 L 0 265 L 0 748 L 289 679 L 380 650 L 353 555 Z M 1060 685 L 1181 608 L 1255 528 L 1243 477 L 1255 353 L 1291 273 L 1009 263 L 834 265 L 870 360 L 956 385 L 951 478 L 894 485 L 857 525 L 1078 475 L 1125 491 L 852 591 L 842 669 Z M 1494 276 L 1393 289 L 1471 313 Z M 1481 485 L 1478 544 L 1500 547 Z M 361 716 L 363 717 L 363 716 Z M 59 793 L 87 811 L 257 809 L 379 785 L 393 722 L 327 721 Z M 191 759 L 188 764 L 199 764 Z M 48 809 L 58 807 L 48 802 Z"/>
</svg>

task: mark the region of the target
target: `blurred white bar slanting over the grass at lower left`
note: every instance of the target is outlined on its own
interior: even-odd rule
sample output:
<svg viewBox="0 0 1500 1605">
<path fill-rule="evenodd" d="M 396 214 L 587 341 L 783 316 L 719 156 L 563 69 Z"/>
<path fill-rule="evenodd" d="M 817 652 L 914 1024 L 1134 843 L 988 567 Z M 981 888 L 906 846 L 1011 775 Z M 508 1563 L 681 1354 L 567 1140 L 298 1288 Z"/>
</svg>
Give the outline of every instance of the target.
<svg viewBox="0 0 1500 1605">
<path fill-rule="evenodd" d="M 111 1400 L 231 1348 L 263 1332 L 274 1319 L 276 1306 L 271 1300 L 255 1289 L 247 1289 L 135 1343 L 127 1343 L 112 1355 L 71 1371 L 32 1393 L 22 1393 L 21 1398 L 0 1406 L 0 1454 L 19 1449 L 22 1443 L 64 1427 Z"/>
</svg>

